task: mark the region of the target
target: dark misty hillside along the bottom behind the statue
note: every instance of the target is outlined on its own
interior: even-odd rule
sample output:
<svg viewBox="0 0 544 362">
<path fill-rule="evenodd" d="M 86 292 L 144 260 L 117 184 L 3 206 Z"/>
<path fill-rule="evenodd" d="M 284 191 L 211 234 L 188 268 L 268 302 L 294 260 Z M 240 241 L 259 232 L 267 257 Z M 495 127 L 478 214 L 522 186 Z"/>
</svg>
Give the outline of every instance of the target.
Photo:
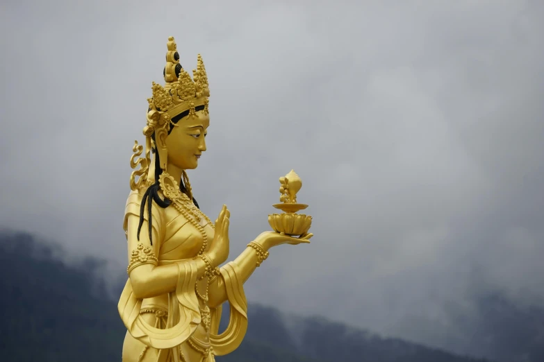
<svg viewBox="0 0 544 362">
<path fill-rule="evenodd" d="M 33 241 L 31 236 L 0 237 L 3 360 L 119 361 L 125 329 L 117 314 L 117 303 L 99 297 L 107 295 L 104 286 L 92 277 L 92 268 L 99 265 L 90 260 L 85 268 L 70 268 L 53 257 L 51 248 Z M 500 315 L 509 313 L 506 310 L 509 307 L 504 302 L 489 302 L 502 308 L 491 309 L 499 321 L 490 330 L 502 344 L 503 350 L 498 352 L 504 356 L 515 354 L 518 361 L 522 354 L 527 356 L 525 361 L 544 361 L 543 347 L 534 345 L 533 334 L 537 329 L 531 329 L 528 316 L 513 314 L 514 320 L 509 320 L 512 331 L 502 331 Z M 543 316 L 542 311 L 534 313 L 538 318 Z M 322 318 L 297 318 L 296 330 L 289 329 L 283 323 L 284 318 L 275 309 L 251 304 L 244 343 L 236 352 L 217 361 L 482 361 L 399 339 L 381 338 Z M 512 341 L 513 338 L 517 339 Z M 513 344 L 525 350 L 507 347 Z"/>
</svg>

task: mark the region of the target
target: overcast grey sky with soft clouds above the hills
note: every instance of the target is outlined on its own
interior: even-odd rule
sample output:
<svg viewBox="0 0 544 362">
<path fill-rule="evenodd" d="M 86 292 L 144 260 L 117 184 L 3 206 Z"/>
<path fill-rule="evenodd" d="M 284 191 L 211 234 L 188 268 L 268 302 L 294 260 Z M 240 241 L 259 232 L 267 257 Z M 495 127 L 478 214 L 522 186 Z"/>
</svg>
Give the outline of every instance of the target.
<svg viewBox="0 0 544 362">
<path fill-rule="evenodd" d="M 206 64 L 189 177 L 210 218 L 231 210 L 231 259 L 270 229 L 278 178 L 304 182 L 312 243 L 273 249 L 250 301 L 434 345 L 465 338 L 447 309 L 481 291 L 544 305 L 541 1 L 206 3 L 1 2 L 2 226 L 126 267 L 131 148 L 172 35 Z"/>
</svg>

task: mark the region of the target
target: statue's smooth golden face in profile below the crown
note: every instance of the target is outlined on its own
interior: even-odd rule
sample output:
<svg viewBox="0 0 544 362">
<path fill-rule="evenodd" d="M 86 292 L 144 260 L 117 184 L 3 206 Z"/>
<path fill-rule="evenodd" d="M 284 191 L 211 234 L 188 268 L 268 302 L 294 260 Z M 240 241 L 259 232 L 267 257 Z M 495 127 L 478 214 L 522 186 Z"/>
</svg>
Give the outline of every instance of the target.
<svg viewBox="0 0 544 362">
<path fill-rule="evenodd" d="M 210 126 L 210 116 L 204 111 L 197 112 L 198 117 L 184 117 L 177 123 L 166 138 L 168 164 L 184 170 L 196 169 L 198 159 L 206 150 L 206 134 Z"/>
</svg>

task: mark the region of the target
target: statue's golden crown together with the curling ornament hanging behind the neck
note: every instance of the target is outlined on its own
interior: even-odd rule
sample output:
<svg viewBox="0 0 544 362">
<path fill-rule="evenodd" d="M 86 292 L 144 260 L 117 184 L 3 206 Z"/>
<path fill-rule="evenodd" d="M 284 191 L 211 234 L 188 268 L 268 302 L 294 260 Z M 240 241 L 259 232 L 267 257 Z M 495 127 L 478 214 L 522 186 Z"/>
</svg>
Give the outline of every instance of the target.
<svg viewBox="0 0 544 362">
<path fill-rule="evenodd" d="M 143 134 L 146 137 L 145 157 L 135 160 L 135 157 L 142 154 L 143 146 L 138 145 L 138 141 L 135 141 L 133 147 L 131 167 L 135 169 L 140 165 L 140 169 L 131 174 L 131 189 L 133 190 L 149 183 L 147 182 L 147 171 L 149 164 L 151 164 L 151 136 L 154 132 L 160 128 L 170 130 L 170 127 L 177 126 L 172 118 L 179 117 L 184 112 L 187 112 L 188 117 L 197 117 L 198 110 L 209 114 L 210 87 L 201 55 L 198 55 L 197 69 L 192 70 L 191 79 L 188 72 L 179 64 L 179 53 L 174 37 L 168 37 L 167 49 L 166 66 L 163 71 L 165 85 L 153 82 L 151 84 L 152 96 L 147 99 L 147 103 L 149 103 L 147 125 L 143 129 Z M 139 179 L 136 180 L 136 177 Z"/>
</svg>

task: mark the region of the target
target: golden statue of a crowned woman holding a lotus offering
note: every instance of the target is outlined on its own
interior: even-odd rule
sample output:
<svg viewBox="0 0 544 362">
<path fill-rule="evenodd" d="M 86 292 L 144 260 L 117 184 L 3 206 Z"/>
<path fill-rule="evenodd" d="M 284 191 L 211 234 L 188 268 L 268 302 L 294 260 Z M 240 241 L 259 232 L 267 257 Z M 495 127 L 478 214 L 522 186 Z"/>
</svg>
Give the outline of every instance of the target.
<svg viewBox="0 0 544 362">
<path fill-rule="evenodd" d="M 307 205 L 297 204 L 302 182 L 291 171 L 280 178 L 282 203 L 274 205 L 283 213 L 268 218 L 274 231 L 263 232 L 224 264 L 230 212 L 224 205 L 212 223 L 193 198 L 186 173 L 206 150 L 208 76 L 198 55 L 191 79 L 179 64 L 173 37 L 167 49 L 165 85 L 153 83 L 147 100 L 145 155 L 140 157 L 143 146 L 136 141 L 131 157 L 135 171 L 123 223 L 129 279 L 118 304 L 127 329 L 122 361 L 211 362 L 236 350 L 245 336 L 243 284 L 270 248 L 309 243 L 311 216 L 295 214 Z M 227 300 L 229 325 L 220 333 Z"/>
</svg>

